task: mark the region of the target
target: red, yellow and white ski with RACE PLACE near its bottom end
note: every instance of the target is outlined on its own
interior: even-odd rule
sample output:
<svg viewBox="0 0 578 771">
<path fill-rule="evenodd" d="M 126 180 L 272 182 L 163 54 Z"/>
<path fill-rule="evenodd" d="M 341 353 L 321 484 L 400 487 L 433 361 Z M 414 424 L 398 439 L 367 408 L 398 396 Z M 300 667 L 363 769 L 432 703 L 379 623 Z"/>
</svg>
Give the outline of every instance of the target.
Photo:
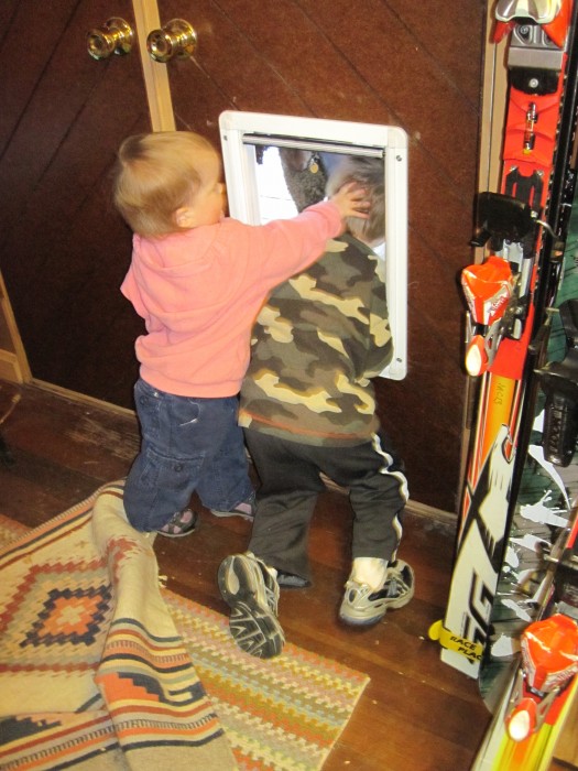
<svg viewBox="0 0 578 771">
<path fill-rule="evenodd" d="M 470 303 L 470 351 L 477 347 L 470 363 L 480 362 L 477 421 L 447 611 L 429 631 L 441 644 L 441 660 L 471 677 L 489 636 L 528 445 L 533 371 L 547 343 L 544 325 L 560 279 L 576 177 L 576 2 L 500 0 L 495 17 L 494 42 L 510 34 L 502 180 L 500 193 L 478 198 L 475 243 L 489 243 L 482 265 L 510 275 L 495 284 L 498 303 L 491 294 L 478 307 Z M 478 268 L 462 276 L 467 296 L 471 270 Z M 480 305 L 486 317 L 477 315 Z"/>
</svg>

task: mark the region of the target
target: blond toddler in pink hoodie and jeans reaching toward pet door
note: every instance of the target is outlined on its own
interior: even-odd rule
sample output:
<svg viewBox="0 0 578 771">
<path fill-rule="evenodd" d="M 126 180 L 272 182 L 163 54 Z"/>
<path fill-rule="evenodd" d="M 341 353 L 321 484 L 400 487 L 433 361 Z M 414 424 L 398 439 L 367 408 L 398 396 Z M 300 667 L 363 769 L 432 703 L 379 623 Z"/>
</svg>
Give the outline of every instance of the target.
<svg viewBox="0 0 578 771">
<path fill-rule="evenodd" d="M 181 536 L 195 528 L 193 492 L 218 517 L 252 519 L 238 393 L 253 322 L 270 291 L 317 260 L 364 192 L 346 185 L 293 219 L 263 226 L 223 216 L 220 159 L 203 137 L 130 137 L 114 203 L 134 232 L 121 291 L 142 316 L 134 401 L 141 448 L 124 486 L 140 531 Z"/>
</svg>

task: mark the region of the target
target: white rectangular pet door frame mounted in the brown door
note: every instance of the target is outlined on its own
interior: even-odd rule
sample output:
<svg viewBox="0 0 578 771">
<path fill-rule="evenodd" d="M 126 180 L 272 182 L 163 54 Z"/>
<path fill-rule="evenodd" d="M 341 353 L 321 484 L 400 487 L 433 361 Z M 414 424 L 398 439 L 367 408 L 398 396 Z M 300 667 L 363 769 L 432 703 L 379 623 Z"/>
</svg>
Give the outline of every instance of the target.
<svg viewBox="0 0 578 771">
<path fill-rule="evenodd" d="M 394 355 L 383 378 L 403 380 L 407 371 L 407 134 L 392 126 L 320 118 L 226 111 L 219 118 L 225 178 L 231 217 L 250 225 L 295 216 L 286 192 L 277 192 L 274 148 L 383 159 L 385 181 L 384 252 L 388 310 Z M 268 149 L 273 165 L 258 164 Z M 263 153 L 261 152 L 261 160 Z M 326 155 L 324 155 L 326 158 Z M 275 189 L 271 189 L 271 186 Z"/>
</svg>

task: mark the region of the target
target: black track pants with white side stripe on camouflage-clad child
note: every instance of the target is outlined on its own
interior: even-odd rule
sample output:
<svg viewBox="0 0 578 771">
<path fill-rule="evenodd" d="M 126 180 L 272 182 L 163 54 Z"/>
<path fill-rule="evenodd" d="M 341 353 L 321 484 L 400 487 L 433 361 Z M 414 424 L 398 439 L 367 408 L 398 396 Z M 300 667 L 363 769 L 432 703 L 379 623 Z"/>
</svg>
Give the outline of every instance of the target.
<svg viewBox="0 0 578 771">
<path fill-rule="evenodd" d="M 244 431 L 261 487 L 249 550 L 268 565 L 310 579 L 309 522 L 323 473 L 349 489 L 353 510 L 351 557 L 395 556 L 407 501 L 403 464 L 380 433 L 356 446 L 318 447 Z"/>
</svg>

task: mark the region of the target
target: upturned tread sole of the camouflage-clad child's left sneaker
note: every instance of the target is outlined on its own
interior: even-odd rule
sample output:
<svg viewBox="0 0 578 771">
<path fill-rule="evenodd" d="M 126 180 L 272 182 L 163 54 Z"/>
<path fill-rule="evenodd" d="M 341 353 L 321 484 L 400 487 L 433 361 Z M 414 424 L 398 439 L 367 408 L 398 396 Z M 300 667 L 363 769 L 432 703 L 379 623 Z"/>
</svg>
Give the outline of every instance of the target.
<svg viewBox="0 0 578 771">
<path fill-rule="evenodd" d="M 237 645 L 258 659 L 272 659 L 283 650 L 285 636 L 274 613 L 259 604 L 251 568 L 242 556 L 227 557 L 217 575 L 219 590 L 231 609 L 229 628 Z"/>
</svg>

